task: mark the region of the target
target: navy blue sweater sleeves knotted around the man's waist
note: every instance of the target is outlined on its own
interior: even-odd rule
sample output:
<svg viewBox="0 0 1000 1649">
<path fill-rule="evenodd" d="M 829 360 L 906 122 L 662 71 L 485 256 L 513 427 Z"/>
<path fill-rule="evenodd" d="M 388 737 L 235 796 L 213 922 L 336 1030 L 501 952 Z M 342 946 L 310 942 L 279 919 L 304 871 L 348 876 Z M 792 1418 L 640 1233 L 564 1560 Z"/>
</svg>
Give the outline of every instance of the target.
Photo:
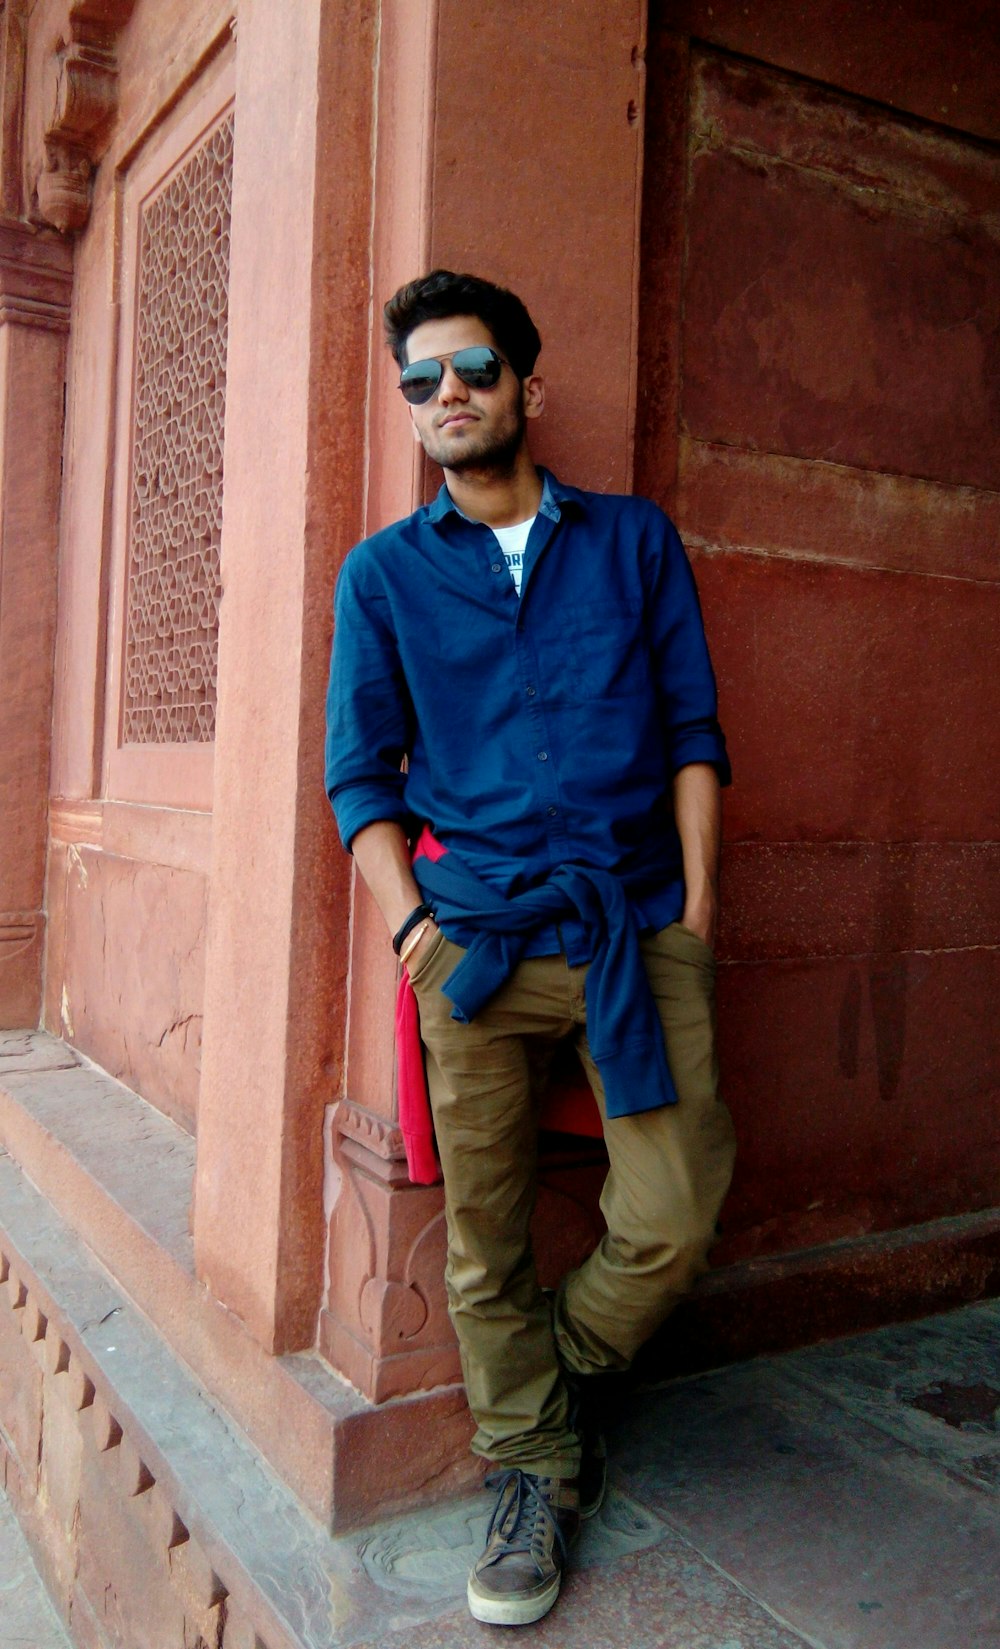
<svg viewBox="0 0 1000 1649">
<path fill-rule="evenodd" d="M 604 1083 L 607 1116 L 677 1105 L 627 879 L 566 864 L 540 887 L 503 897 L 450 853 L 437 861 L 416 859 L 413 872 L 446 933 L 449 922 L 477 928 L 442 984 L 454 1004 L 452 1019 L 462 1024 L 475 1019 L 510 978 L 538 928 L 576 917 L 592 945 L 587 1041 Z"/>
</svg>

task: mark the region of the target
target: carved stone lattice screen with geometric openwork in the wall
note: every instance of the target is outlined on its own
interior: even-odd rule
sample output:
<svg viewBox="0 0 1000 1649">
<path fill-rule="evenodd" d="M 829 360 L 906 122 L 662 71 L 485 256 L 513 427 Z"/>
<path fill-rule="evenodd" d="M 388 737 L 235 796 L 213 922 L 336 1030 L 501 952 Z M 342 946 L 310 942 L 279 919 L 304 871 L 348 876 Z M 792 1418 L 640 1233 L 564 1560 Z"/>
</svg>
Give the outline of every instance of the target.
<svg viewBox="0 0 1000 1649">
<path fill-rule="evenodd" d="M 215 737 L 233 115 L 142 209 L 122 744 Z"/>
</svg>

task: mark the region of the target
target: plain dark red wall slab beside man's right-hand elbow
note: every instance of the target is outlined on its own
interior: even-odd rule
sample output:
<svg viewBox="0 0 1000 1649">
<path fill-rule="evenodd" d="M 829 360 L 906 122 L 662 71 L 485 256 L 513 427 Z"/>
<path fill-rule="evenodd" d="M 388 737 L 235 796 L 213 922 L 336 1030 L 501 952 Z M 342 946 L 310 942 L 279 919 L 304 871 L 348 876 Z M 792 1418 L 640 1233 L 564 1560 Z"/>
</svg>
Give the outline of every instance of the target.
<svg viewBox="0 0 1000 1649">
<path fill-rule="evenodd" d="M 698 556 L 749 841 L 995 839 L 1000 585 Z"/>
</svg>

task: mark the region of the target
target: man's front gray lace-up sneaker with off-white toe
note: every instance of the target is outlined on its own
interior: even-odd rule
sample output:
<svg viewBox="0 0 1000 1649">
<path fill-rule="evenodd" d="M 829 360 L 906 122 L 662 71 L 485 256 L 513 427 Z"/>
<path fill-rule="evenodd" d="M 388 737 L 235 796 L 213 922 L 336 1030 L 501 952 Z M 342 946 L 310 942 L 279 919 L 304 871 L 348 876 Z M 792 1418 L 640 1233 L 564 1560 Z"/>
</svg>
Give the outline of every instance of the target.
<svg viewBox="0 0 1000 1649">
<path fill-rule="evenodd" d="M 528 1626 L 559 1596 L 566 1555 L 579 1534 L 576 1481 L 497 1471 L 497 1506 L 482 1557 L 469 1576 L 469 1608 L 488 1626 Z"/>
</svg>

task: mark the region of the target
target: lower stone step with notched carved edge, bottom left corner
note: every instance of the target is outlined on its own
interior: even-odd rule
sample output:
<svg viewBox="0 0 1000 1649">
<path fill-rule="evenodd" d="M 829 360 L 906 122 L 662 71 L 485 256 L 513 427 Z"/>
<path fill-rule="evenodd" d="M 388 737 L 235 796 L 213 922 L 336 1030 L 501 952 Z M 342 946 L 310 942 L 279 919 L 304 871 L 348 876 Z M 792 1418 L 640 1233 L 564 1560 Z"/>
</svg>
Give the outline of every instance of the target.
<svg viewBox="0 0 1000 1649">
<path fill-rule="evenodd" d="M 325 1649 L 327 1529 L 7 1154 L 0 1210 L 7 1479 L 66 1618 L 114 1598 L 112 1642 L 155 1611 L 180 1644 L 224 1606 L 248 1644 Z"/>
</svg>

